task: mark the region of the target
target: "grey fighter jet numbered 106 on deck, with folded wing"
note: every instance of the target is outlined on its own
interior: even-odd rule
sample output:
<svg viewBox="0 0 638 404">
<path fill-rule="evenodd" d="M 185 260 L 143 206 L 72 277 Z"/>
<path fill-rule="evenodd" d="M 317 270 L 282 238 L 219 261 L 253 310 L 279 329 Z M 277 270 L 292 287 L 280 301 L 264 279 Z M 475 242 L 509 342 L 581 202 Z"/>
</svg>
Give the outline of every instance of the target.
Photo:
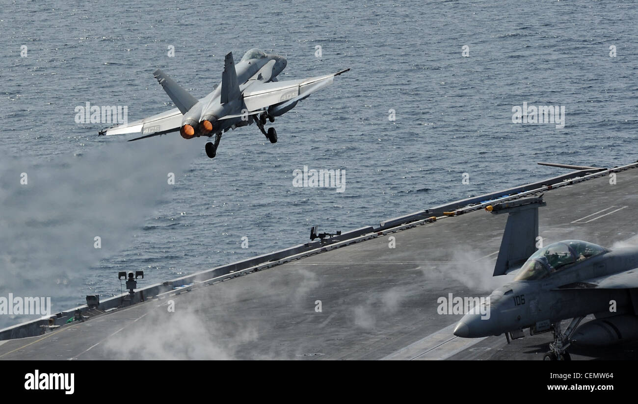
<svg viewBox="0 0 638 404">
<path fill-rule="evenodd" d="M 535 247 L 540 198 L 487 206 L 509 213 L 494 276 L 519 270 L 511 282 L 472 308 L 454 335 L 510 338 L 551 331 L 554 342 L 544 360 L 570 360 L 567 348 L 604 346 L 638 338 L 638 248 L 607 249 L 581 240 Z M 522 266 L 521 266 L 522 264 Z M 489 306 L 489 307 L 487 307 Z M 489 316 L 482 315 L 489 309 Z M 582 324 L 587 315 L 595 319 Z M 488 318 L 489 317 L 489 318 Z M 572 319 L 565 332 L 561 320 Z"/>
</svg>

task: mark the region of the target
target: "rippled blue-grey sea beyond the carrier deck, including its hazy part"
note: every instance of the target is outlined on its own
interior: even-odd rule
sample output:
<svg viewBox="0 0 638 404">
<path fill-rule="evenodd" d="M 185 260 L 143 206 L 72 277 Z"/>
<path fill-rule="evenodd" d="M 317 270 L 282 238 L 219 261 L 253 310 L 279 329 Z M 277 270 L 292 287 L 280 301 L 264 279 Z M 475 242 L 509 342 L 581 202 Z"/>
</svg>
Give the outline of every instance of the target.
<svg viewBox="0 0 638 404">
<path fill-rule="evenodd" d="M 51 296 L 56 312 L 119 294 L 118 271 L 144 270 L 143 287 L 307 242 L 315 224 L 346 231 L 563 172 L 538 161 L 635 161 L 637 13 L 634 1 L 5 2 L 0 296 Z M 275 145 L 242 127 L 215 159 L 203 138 L 127 143 L 75 122 L 86 102 L 127 106 L 129 121 L 173 108 L 156 68 L 205 96 L 226 52 L 253 47 L 288 58 L 280 80 L 351 70 L 276 119 Z M 512 123 L 523 103 L 564 106 L 565 126 Z M 304 166 L 345 170 L 345 192 L 293 187 Z"/>
</svg>

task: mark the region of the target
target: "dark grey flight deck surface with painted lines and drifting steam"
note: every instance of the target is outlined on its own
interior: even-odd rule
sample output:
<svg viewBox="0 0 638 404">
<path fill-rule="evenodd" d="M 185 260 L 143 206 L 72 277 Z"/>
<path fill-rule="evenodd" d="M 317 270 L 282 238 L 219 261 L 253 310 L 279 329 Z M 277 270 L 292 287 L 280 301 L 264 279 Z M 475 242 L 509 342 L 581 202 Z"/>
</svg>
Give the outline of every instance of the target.
<svg viewBox="0 0 638 404">
<path fill-rule="evenodd" d="M 545 193 L 544 244 L 634 242 L 638 170 Z M 0 359 L 538 359 L 551 333 L 452 335 L 438 299 L 487 296 L 507 215 L 446 217 L 218 284 L 0 342 Z M 390 237 L 396 248 L 390 249 Z M 169 302 L 168 300 L 172 302 Z M 174 312 L 169 312 L 169 303 Z M 319 311 L 320 310 L 320 311 Z M 572 349 L 572 359 L 635 359 L 636 345 Z"/>
</svg>

